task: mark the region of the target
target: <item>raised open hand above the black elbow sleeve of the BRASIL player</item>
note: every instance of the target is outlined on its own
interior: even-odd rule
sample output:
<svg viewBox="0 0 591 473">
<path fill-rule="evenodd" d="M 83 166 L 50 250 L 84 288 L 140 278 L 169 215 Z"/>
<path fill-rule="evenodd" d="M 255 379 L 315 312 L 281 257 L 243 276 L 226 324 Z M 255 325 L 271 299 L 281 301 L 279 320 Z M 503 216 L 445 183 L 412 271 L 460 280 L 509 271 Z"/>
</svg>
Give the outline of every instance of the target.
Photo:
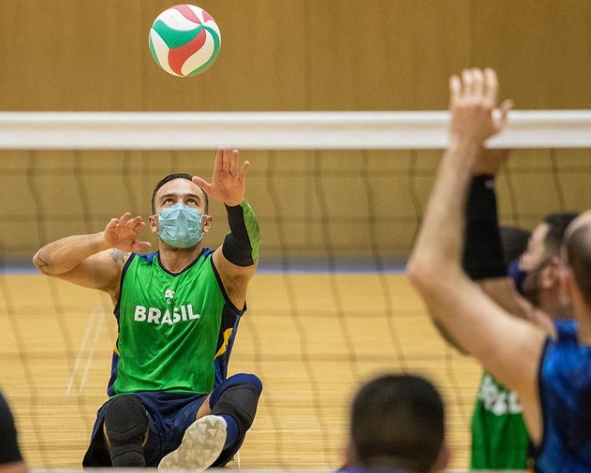
<svg viewBox="0 0 591 473">
<path fill-rule="evenodd" d="M 195 176 L 193 182 L 212 199 L 220 200 L 229 207 L 240 205 L 246 192 L 246 177 L 250 162 L 244 161 L 239 167 L 237 149 L 218 148 L 213 166 L 211 182 Z"/>
</svg>

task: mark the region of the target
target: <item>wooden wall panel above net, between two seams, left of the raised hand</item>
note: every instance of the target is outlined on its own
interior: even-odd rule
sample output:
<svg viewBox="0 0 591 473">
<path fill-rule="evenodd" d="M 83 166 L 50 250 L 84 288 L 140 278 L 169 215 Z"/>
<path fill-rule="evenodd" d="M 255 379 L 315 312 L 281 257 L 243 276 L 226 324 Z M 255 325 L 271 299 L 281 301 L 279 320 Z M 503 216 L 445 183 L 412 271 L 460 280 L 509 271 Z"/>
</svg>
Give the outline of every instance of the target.
<svg viewBox="0 0 591 473">
<path fill-rule="evenodd" d="M 467 1 L 312 2 L 311 109 L 446 106 L 447 78 L 468 63 Z"/>
</svg>

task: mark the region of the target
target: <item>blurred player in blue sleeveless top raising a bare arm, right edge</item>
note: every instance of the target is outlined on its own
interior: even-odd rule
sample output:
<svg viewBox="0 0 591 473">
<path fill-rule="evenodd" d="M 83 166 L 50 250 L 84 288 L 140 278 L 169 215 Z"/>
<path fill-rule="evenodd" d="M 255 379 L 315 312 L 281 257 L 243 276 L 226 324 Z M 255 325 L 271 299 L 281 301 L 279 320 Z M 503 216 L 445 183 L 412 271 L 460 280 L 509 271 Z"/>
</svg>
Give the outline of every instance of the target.
<svg viewBox="0 0 591 473">
<path fill-rule="evenodd" d="M 485 141 L 500 132 L 510 102 L 497 106 L 494 71 L 452 77 L 450 141 L 408 274 L 450 336 L 521 401 L 539 472 L 591 470 L 591 213 L 567 229 L 558 277 L 578 321 L 578 343 L 495 304 L 462 270 L 464 209 Z M 580 344 L 579 344 L 580 343 Z"/>
</svg>

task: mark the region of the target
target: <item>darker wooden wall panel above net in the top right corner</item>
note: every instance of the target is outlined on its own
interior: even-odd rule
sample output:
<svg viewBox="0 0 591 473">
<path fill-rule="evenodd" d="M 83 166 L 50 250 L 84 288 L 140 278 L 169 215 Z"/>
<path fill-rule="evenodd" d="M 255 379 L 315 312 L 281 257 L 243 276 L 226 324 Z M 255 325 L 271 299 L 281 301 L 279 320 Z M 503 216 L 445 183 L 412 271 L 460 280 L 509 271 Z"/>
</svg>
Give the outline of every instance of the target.
<svg viewBox="0 0 591 473">
<path fill-rule="evenodd" d="M 470 44 L 517 108 L 591 107 L 591 2 L 472 0 Z"/>
</svg>

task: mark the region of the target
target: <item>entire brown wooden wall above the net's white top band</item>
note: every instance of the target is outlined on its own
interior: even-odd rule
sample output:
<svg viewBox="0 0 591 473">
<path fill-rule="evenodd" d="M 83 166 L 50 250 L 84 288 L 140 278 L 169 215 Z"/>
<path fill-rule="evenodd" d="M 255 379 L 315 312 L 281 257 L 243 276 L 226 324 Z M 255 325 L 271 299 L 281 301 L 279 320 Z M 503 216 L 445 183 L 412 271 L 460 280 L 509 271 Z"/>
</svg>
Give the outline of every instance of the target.
<svg viewBox="0 0 591 473">
<path fill-rule="evenodd" d="M 591 0 L 200 0 L 207 73 L 168 76 L 147 38 L 169 0 L 2 0 L 0 110 L 425 110 L 492 65 L 519 108 L 591 104 Z"/>
</svg>

